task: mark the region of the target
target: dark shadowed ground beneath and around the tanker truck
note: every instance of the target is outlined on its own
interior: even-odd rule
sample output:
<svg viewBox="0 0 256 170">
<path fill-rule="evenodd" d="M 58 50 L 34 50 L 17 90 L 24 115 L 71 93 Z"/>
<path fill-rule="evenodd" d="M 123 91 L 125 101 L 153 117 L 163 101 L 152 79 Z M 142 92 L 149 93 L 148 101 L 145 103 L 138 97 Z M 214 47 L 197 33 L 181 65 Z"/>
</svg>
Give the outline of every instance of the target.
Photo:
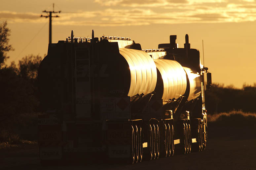
<svg viewBox="0 0 256 170">
<path fill-rule="evenodd" d="M 232 133 L 228 133 L 228 132 Z M 113 164 L 104 158 L 95 158 L 90 162 L 66 164 L 63 166 L 42 166 L 38 157 L 38 146 L 22 144 L 17 148 L 0 150 L 0 169 L 38 169 L 38 170 L 80 170 L 80 169 L 177 169 L 177 170 L 256 170 L 256 136 L 253 129 L 214 128 L 209 130 L 206 150 L 187 155 L 175 155 L 171 158 L 142 161 L 134 165 Z"/>
</svg>

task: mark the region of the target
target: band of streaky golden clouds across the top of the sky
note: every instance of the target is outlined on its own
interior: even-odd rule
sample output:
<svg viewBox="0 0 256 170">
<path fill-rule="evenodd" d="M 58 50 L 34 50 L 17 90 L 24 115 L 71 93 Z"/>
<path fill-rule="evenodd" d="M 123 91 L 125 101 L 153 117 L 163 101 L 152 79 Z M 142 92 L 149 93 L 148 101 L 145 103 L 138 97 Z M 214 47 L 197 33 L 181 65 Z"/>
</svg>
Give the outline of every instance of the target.
<svg viewBox="0 0 256 170">
<path fill-rule="evenodd" d="M 176 23 L 219 23 L 255 21 L 256 4 L 249 2 L 229 3 L 226 0 L 145 0 L 138 4 L 137 0 L 95 0 L 103 5 L 127 4 L 130 7 L 107 8 L 97 11 L 79 11 L 74 13 L 60 13 L 54 19 L 55 25 L 98 25 L 98 26 L 130 26 L 150 24 Z M 179 3 L 178 3 L 179 2 Z M 215 3 L 213 3 L 215 2 Z M 212 4 L 211 4 L 212 3 Z M 133 5 L 132 5 L 133 4 Z M 134 5 L 139 7 L 132 7 Z M 141 5 L 149 7 L 140 7 Z M 150 7 L 150 5 L 159 5 Z M 160 4 L 166 4 L 160 6 Z M 39 13 L 18 13 L 0 11 L 0 19 L 8 22 L 41 23 Z M 44 20 L 43 20 L 44 19 Z"/>
</svg>

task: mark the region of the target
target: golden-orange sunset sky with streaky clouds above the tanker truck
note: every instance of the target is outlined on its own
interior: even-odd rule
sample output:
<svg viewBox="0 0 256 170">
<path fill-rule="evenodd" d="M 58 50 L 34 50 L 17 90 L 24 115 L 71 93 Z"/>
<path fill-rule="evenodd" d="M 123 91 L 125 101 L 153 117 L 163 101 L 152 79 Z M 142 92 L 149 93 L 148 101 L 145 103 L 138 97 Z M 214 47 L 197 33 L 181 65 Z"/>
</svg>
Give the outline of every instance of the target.
<svg viewBox="0 0 256 170">
<path fill-rule="evenodd" d="M 47 54 L 49 18 L 53 1 L 9 0 L 1 3 L 0 22 L 11 29 L 11 61 L 29 54 Z M 183 48 L 189 35 L 191 48 L 204 42 L 205 66 L 213 83 L 234 85 L 256 83 L 256 1 L 255 0 L 55 0 L 53 43 L 75 36 L 125 36 L 143 49 L 168 43 L 177 35 Z M 33 39 L 34 38 L 34 39 Z M 202 60 L 201 60 L 202 61 Z"/>
</svg>

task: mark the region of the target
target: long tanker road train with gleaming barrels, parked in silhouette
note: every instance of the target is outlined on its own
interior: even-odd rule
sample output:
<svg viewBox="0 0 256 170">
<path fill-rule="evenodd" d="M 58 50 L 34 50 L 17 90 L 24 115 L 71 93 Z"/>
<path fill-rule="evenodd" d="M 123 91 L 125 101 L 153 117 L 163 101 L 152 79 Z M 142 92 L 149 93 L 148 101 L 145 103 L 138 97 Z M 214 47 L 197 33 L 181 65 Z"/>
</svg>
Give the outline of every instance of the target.
<svg viewBox="0 0 256 170">
<path fill-rule="evenodd" d="M 74 37 L 49 44 L 38 81 L 41 161 L 79 153 L 125 159 L 188 154 L 206 147 L 204 92 L 211 73 L 176 36 L 142 50 L 129 37 Z"/>
</svg>

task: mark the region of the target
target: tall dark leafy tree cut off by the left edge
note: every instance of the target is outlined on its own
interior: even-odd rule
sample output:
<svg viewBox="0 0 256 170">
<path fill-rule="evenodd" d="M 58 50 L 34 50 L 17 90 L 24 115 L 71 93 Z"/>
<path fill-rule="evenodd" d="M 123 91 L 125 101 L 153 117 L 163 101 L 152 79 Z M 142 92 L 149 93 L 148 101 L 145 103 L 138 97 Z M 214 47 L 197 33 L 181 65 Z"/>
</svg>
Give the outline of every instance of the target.
<svg viewBox="0 0 256 170">
<path fill-rule="evenodd" d="M 7 28 L 7 21 L 0 23 L 0 69 L 9 58 L 6 53 L 14 50 L 12 45 L 9 45 L 10 32 L 10 29 Z"/>
</svg>

